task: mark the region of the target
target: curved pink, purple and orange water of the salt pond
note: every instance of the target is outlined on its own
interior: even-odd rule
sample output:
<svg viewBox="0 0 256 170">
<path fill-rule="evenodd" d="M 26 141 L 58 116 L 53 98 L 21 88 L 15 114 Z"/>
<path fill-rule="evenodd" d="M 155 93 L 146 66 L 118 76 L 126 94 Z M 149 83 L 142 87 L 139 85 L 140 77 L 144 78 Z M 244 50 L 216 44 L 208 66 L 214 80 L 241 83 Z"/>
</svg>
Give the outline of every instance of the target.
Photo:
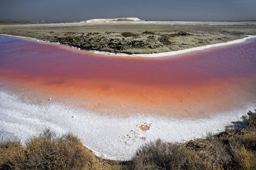
<svg viewBox="0 0 256 170">
<path fill-rule="evenodd" d="M 0 36 L 0 55 L 4 87 L 100 114 L 204 117 L 256 101 L 256 39 L 148 59 Z"/>
</svg>

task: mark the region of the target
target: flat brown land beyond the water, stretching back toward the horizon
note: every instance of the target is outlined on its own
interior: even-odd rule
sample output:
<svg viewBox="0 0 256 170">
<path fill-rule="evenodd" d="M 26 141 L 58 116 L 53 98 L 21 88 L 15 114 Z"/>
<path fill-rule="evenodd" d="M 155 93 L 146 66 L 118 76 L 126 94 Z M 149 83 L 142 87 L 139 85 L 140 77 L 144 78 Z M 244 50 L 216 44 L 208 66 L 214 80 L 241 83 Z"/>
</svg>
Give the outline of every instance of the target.
<svg viewBox="0 0 256 170">
<path fill-rule="evenodd" d="M 0 27 L 1 34 L 25 36 L 85 50 L 111 53 L 162 53 L 225 43 L 256 34 L 256 25 L 66 25 Z"/>
</svg>

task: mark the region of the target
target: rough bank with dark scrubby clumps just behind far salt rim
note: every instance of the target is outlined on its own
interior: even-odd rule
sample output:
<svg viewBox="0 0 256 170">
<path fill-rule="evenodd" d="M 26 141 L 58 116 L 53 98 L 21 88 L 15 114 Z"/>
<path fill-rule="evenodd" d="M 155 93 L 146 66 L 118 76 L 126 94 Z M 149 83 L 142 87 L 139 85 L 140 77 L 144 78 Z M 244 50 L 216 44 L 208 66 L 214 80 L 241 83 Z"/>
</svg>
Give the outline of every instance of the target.
<svg viewBox="0 0 256 170">
<path fill-rule="evenodd" d="M 236 38 L 243 36 L 237 35 Z M 98 50 L 114 53 L 157 53 L 192 48 L 195 46 L 221 43 L 234 39 L 234 36 L 218 34 L 200 36 L 188 32 L 93 32 L 77 36 L 56 37 L 54 42 L 63 43 L 86 50 Z"/>
</svg>

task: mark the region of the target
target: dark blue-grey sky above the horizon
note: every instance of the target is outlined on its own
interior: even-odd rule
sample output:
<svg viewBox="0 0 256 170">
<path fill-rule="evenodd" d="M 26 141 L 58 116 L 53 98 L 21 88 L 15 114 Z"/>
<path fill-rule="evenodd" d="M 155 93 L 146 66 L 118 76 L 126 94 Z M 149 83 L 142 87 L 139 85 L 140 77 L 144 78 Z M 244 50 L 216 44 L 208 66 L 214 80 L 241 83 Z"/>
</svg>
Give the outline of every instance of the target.
<svg viewBox="0 0 256 170">
<path fill-rule="evenodd" d="M 0 20 L 256 20 L 256 0 L 0 0 Z"/>
</svg>

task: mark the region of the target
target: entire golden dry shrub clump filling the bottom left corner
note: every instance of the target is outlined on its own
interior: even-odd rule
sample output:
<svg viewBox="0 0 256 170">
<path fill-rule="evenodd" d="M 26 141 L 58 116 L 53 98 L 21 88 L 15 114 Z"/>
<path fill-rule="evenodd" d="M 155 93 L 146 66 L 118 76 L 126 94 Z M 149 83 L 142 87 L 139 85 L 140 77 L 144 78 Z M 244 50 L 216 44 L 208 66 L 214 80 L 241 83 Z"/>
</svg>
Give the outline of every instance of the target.
<svg viewBox="0 0 256 170">
<path fill-rule="evenodd" d="M 1 143 L 0 169 L 118 169 L 93 155 L 72 134 L 56 136 L 49 130 L 28 140 L 22 148 L 19 142 Z"/>
</svg>

